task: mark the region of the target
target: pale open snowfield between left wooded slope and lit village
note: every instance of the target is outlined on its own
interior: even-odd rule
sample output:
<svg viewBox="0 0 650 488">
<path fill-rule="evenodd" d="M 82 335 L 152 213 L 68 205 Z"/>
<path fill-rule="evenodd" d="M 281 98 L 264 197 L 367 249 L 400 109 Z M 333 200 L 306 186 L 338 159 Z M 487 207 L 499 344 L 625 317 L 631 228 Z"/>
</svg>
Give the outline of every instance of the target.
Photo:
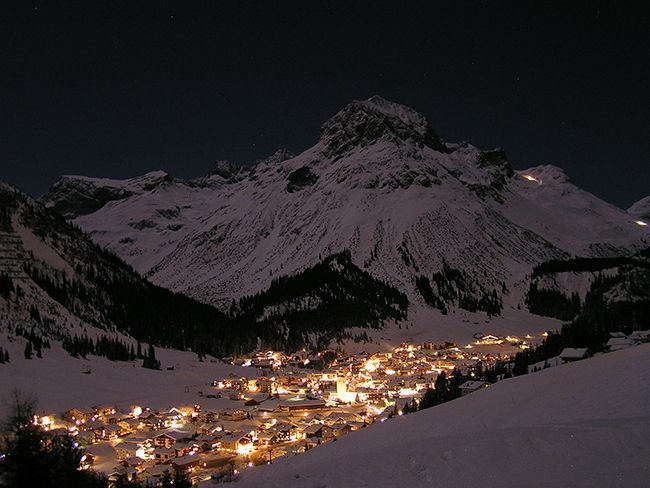
<svg viewBox="0 0 650 488">
<path fill-rule="evenodd" d="M 142 361 L 108 361 L 89 356 L 71 357 L 53 342 L 52 349 L 43 352 L 43 358 L 27 360 L 23 357 L 24 342 L 7 340 L 0 336 L 0 344 L 9 351 L 11 362 L 0 364 L 0 418 L 8 413 L 9 399 L 15 389 L 37 400 L 37 410 L 44 413 L 62 413 L 65 410 L 90 408 L 94 405 L 113 405 L 126 408 L 146 405 L 154 409 L 200 403 L 206 408 L 235 406 L 234 402 L 206 399 L 198 392 L 206 392 L 215 378 L 233 373 L 250 375 L 250 368 L 230 366 L 212 361 L 208 356 L 199 362 L 194 353 L 156 349 L 162 371 L 141 367 Z M 167 367 L 174 367 L 173 371 Z M 84 372 L 91 371 L 90 374 Z M 241 405 L 241 404 L 239 404 Z"/>
</svg>

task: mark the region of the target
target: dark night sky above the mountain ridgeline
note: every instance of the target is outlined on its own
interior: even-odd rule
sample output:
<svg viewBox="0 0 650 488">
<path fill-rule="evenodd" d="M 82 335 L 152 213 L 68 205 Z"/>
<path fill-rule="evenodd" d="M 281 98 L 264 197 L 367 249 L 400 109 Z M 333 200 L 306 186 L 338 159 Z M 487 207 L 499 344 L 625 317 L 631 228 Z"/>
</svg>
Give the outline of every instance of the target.
<svg viewBox="0 0 650 488">
<path fill-rule="evenodd" d="M 199 176 L 380 94 L 627 207 L 650 194 L 650 15 L 628 3 L 5 1 L 0 179 Z"/>
</svg>

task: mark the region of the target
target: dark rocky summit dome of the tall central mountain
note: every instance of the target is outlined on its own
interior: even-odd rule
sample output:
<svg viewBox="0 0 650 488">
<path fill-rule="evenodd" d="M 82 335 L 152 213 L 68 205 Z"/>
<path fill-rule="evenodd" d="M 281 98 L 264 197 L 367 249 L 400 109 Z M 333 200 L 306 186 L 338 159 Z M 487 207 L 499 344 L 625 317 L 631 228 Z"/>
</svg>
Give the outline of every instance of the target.
<svg viewBox="0 0 650 488">
<path fill-rule="evenodd" d="M 353 147 L 366 147 L 380 140 L 447 152 L 445 143 L 423 115 L 378 95 L 346 105 L 323 124 L 320 140 L 325 146 L 325 155 L 331 158 L 340 157 Z"/>
</svg>

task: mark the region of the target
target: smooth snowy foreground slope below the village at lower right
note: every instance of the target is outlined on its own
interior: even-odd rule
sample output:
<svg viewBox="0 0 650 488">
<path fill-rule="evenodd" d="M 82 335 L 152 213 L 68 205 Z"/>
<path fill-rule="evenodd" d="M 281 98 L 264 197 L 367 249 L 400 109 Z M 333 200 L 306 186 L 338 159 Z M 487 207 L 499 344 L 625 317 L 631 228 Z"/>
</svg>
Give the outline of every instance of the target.
<svg viewBox="0 0 650 488">
<path fill-rule="evenodd" d="M 237 486 L 647 486 L 649 404 L 646 344 L 394 418 Z"/>
</svg>

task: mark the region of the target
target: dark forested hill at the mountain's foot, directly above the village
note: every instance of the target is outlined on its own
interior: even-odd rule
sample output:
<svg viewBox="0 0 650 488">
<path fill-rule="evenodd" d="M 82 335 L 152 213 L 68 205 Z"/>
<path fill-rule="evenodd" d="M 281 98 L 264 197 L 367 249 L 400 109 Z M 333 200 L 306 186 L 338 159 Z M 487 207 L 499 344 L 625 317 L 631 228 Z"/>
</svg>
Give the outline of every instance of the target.
<svg viewBox="0 0 650 488">
<path fill-rule="evenodd" d="M 366 340 L 352 328 L 380 329 L 406 318 L 408 299 L 361 270 L 349 252 L 326 257 L 299 273 L 282 276 L 268 290 L 231 307 L 237 322 L 253 327 L 263 344 L 289 349 L 323 347 L 330 340 Z"/>
</svg>

